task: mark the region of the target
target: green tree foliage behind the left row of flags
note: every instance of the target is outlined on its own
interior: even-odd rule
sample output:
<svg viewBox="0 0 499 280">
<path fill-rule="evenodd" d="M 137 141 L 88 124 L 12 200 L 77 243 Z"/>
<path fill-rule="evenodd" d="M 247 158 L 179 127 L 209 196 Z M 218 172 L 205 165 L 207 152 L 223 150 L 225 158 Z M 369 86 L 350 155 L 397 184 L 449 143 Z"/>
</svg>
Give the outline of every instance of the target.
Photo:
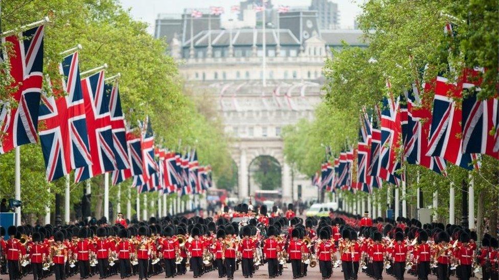
<svg viewBox="0 0 499 280">
<path fill-rule="evenodd" d="M 121 73 L 120 93 L 128 123 L 137 123 L 149 116 L 159 146 L 179 149 L 196 147 L 200 164 L 211 164 L 214 175 L 231 174 L 228 142 L 220 119 L 213 112 L 203 111 L 197 100 L 185 92 L 175 61 L 166 54 L 163 40 L 156 40 L 146 32 L 146 23 L 135 21 L 118 0 L 35 0 L 2 1 L 1 30 L 11 30 L 39 20 L 46 15 L 51 22 L 44 37 L 44 73 L 55 81 L 60 79 L 59 55 L 65 49 L 81 44 L 80 70 L 85 71 L 107 63 L 106 75 Z M 8 46 L 2 46 L 6 49 Z M 8 69 L 8 63 L 1 64 Z M 1 71 L 2 101 L 8 98 L 8 71 Z M 83 77 L 82 77 L 83 78 Z M 7 81 L 7 82 L 6 82 Z M 205 100 L 205 103 L 209 102 Z M 182 149 L 183 151 L 184 149 Z M 2 156 L 0 176 L 2 197 L 13 195 L 14 151 Z M 47 183 L 39 145 L 21 147 L 21 199 L 23 214 L 44 212 L 53 206 L 54 193 L 63 193 L 64 179 Z M 230 175 L 229 175 L 230 176 Z M 92 180 L 92 209 L 100 214 L 103 178 Z M 125 190 L 122 184 L 122 211 Z M 47 189 L 50 187 L 51 192 Z M 84 183 L 72 184 L 71 202 L 83 194 Z M 117 188 L 110 189 L 111 202 L 116 205 Z M 135 201 L 132 191 L 132 202 Z M 116 212 L 116 208 L 115 208 Z"/>
</svg>

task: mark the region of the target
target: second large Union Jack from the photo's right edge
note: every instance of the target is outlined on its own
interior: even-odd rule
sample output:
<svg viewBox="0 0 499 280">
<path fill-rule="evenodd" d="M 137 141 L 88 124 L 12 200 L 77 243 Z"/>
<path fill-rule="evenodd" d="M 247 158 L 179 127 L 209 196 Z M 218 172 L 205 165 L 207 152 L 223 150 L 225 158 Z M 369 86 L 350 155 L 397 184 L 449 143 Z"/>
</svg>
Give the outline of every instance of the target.
<svg viewBox="0 0 499 280">
<path fill-rule="evenodd" d="M 472 170 L 478 168 L 477 154 L 462 154 L 462 111 L 457 103 L 462 97 L 461 88 L 437 77 L 433 100 L 433 118 L 428 138 L 427 156 L 445 160 Z M 473 164 L 475 163 L 475 164 Z"/>
</svg>

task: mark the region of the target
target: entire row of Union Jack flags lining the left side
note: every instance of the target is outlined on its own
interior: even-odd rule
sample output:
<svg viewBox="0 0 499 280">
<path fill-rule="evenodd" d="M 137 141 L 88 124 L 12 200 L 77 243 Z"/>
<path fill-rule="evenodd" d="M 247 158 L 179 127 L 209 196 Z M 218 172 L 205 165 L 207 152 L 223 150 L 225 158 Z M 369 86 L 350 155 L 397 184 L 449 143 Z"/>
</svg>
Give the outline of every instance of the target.
<svg viewBox="0 0 499 280">
<path fill-rule="evenodd" d="M 75 170 L 75 182 L 106 172 L 114 184 L 133 177 L 139 191 L 194 194 L 211 187 L 211 168 L 199 166 L 195 150 L 183 156 L 155 145 L 149 118 L 125 123 L 117 79 L 106 83 L 104 70 L 80 78 L 78 52 L 59 64 L 60 80 L 44 76 L 43 35 L 42 25 L 2 38 L 12 45 L 0 58 L 10 63 L 13 81 L 0 110 L 1 154 L 39 136 L 48 181 Z"/>
</svg>

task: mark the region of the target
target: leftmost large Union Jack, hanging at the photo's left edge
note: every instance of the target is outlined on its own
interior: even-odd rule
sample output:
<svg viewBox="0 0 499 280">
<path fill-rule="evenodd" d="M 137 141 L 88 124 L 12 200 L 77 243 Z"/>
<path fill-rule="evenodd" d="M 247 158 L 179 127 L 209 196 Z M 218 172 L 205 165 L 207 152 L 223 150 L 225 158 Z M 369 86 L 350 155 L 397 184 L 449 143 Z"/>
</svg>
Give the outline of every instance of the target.
<svg viewBox="0 0 499 280">
<path fill-rule="evenodd" d="M 10 98 L 3 100 L 0 106 L 0 154 L 37 141 L 43 79 L 43 35 L 44 26 L 39 26 L 2 38 L 2 45 L 12 46 L 8 54 L 0 52 L 0 61 L 9 60 L 13 82 L 6 89 L 6 92 L 12 91 Z M 12 101 L 15 105 L 11 104 Z"/>
</svg>

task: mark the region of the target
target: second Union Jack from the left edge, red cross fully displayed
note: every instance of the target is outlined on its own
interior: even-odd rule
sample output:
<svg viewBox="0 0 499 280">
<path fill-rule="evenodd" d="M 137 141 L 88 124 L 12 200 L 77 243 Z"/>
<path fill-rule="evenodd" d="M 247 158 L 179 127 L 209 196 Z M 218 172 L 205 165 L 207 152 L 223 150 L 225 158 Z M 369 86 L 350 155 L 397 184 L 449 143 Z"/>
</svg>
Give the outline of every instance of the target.
<svg viewBox="0 0 499 280">
<path fill-rule="evenodd" d="M 59 64 L 63 77 L 59 88 L 48 84 L 53 95 L 42 92 L 40 104 L 39 135 L 47 180 L 54 181 L 71 170 L 92 164 L 88 149 L 85 106 L 80 85 L 78 53 L 63 59 Z"/>
</svg>

